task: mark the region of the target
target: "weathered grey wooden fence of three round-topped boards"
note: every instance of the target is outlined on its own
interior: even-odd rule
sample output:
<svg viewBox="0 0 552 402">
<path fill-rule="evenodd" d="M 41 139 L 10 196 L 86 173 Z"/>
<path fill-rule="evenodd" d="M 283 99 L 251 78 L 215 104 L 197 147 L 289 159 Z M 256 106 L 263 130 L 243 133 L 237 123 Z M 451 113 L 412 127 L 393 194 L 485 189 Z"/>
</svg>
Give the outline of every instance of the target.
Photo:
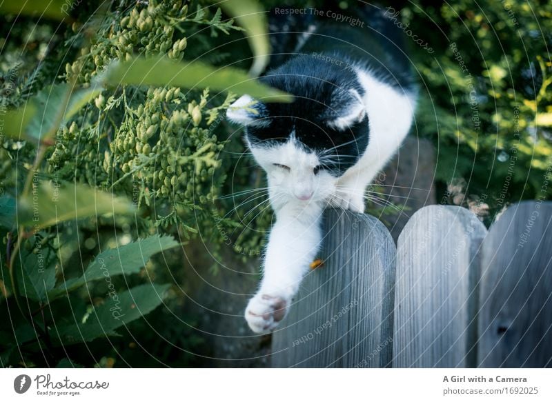
<svg viewBox="0 0 552 402">
<path fill-rule="evenodd" d="M 328 210 L 324 225 L 273 367 L 552 367 L 552 202 L 512 205 L 489 231 L 430 205 L 397 248 L 368 215 Z"/>
</svg>

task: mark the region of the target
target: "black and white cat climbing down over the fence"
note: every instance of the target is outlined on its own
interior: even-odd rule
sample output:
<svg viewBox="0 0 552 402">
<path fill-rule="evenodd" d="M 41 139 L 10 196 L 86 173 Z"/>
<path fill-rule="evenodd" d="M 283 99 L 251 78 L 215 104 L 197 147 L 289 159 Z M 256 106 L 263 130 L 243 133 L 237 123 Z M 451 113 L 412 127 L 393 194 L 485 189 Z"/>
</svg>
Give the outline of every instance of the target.
<svg viewBox="0 0 552 402">
<path fill-rule="evenodd" d="M 322 19 L 291 32 L 293 23 L 280 23 L 273 39 L 288 49 L 261 81 L 295 101 L 244 95 L 228 109 L 266 171 L 276 216 L 245 311 L 254 332 L 284 319 L 319 250 L 324 208 L 363 213 L 367 185 L 411 128 L 417 91 L 395 27 L 379 10 L 362 17 L 362 28 Z"/>
</svg>

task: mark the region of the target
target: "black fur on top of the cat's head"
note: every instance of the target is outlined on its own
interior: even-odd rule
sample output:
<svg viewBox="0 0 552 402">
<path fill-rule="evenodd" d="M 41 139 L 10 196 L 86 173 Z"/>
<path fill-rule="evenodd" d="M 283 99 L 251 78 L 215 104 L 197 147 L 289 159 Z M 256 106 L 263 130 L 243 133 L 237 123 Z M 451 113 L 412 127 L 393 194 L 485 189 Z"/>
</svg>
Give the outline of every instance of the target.
<svg viewBox="0 0 552 402">
<path fill-rule="evenodd" d="M 357 102 L 349 89 L 362 96 L 362 87 L 352 71 L 323 63 L 310 56 L 294 57 L 261 79 L 270 86 L 295 95 L 293 103 L 264 103 L 259 114 L 266 122 L 250 125 L 248 140 L 259 146 L 288 141 L 293 133 L 308 150 L 326 151 L 335 158 L 326 168 L 342 174 L 354 165 L 368 145 L 368 118 L 350 128 L 336 130 L 328 125 Z"/>
</svg>

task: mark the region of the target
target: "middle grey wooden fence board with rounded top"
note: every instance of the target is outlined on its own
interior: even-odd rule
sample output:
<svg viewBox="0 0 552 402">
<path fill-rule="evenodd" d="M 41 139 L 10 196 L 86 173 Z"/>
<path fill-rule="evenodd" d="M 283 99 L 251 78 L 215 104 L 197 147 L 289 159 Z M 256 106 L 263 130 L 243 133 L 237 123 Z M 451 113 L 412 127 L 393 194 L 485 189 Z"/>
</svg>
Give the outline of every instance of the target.
<svg viewBox="0 0 552 402">
<path fill-rule="evenodd" d="M 477 250 L 486 228 L 465 208 L 416 212 L 397 245 L 393 367 L 473 367 Z"/>
</svg>

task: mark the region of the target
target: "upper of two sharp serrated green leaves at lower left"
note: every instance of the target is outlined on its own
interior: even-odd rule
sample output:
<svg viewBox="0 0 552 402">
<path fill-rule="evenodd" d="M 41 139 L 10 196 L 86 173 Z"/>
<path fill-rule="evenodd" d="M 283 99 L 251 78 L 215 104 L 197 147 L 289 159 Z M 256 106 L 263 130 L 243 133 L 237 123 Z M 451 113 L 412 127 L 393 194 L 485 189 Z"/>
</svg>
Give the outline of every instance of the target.
<svg viewBox="0 0 552 402">
<path fill-rule="evenodd" d="M 170 236 L 160 237 L 158 234 L 146 239 L 139 239 L 118 248 L 112 248 L 98 254 L 81 277 L 68 279 L 57 286 L 48 297 L 55 299 L 61 294 L 75 290 L 85 283 L 106 279 L 115 275 L 129 275 L 140 271 L 148 260 L 158 252 L 174 248 L 179 243 Z"/>
</svg>

